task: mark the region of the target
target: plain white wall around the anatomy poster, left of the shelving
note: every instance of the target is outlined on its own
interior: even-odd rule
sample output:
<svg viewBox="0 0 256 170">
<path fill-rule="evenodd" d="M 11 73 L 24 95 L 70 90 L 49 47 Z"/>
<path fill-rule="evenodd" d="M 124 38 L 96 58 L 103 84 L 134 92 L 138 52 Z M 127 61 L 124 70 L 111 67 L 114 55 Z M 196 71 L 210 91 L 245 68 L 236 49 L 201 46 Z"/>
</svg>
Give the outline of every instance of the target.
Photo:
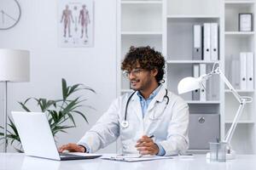
<svg viewBox="0 0 256 170">
<path fill-rule="evenodd" d="M 0 48 L 31 51 L 31 81 L 9 83 L 8 111 L 22 111 L 17 101 L 28 97 L 61 98 L 61 77 L 69 84 L 84 83 L 97 92 L 90 94 L 87 103 L 96 108 L 88 113 L 90 124 L 77 119 L 78 127 L 58 138 L 59 145 L 75 143 L 116 97 L 116 1 L 95 0 L 93 48 L 58 47 L 58 1 L 18 1 L 22 12 L 20 22 L 8 31 L 0 31 Z M 0 124 L 3 125 L 3 84 L 0 88 Z M 115 151 L 115 144 L 104 151 Z"/>
</svg>

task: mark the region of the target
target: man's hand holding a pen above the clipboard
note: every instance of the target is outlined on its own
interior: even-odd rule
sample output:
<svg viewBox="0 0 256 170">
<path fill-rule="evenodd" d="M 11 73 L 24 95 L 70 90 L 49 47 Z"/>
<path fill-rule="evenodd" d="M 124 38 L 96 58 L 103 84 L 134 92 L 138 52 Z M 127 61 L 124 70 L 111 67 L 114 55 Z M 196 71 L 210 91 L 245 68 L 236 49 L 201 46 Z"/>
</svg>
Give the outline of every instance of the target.
<svg viewBox="0 0 256 170">
<path fill-rule="evenodd" d="M 159 152 L 157 144 L 154 144 L 153 139 L 146 135 L 137 140 L 135 147 L 137 147 L 141 155 L 156 155 Z"/>
</svg>

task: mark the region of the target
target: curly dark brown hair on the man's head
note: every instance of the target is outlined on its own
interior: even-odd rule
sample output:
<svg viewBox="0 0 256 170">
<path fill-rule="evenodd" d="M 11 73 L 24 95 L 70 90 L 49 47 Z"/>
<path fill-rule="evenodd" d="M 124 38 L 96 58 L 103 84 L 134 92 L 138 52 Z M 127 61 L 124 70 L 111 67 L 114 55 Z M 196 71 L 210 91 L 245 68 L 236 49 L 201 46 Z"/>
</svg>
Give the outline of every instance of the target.
<svg viewBox="0 0 256 170">
<path fill-rule="evenodd" d="M 123 71 L 131 71 L 132 69 L 140 68 L 152 71 L 157 69 L 158 73 L 155 79 L 158 83 L 164 82 L 163 77 L 165 74 L 165 58 L 160 52 L 155 51 L 154 48 L 131 46 L 129 52 L 125 54 L 125 59 L 122 62 L 121 69 Z"/>
</svg>

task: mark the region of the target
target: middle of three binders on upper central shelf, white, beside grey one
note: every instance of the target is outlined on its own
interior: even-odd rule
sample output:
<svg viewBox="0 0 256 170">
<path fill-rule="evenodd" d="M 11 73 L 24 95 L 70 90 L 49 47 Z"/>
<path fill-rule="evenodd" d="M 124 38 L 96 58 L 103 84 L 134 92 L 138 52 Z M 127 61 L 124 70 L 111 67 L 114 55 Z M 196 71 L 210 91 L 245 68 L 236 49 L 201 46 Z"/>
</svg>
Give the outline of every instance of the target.
<svg viewBox="0 0 256 170">
<path fill-rule="evenodd" d="M 203 33 L 203 58 L 206 61 L 211 60 L 211 23 L 204 23 Z"/>
</svg>

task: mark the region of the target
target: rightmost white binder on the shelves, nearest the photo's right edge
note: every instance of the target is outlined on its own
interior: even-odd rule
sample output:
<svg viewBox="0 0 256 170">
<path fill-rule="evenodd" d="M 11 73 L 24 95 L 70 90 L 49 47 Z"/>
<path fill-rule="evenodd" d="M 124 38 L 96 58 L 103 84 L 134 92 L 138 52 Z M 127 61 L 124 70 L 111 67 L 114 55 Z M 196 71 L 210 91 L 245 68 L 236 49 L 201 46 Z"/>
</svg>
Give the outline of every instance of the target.
<svg viewBox="0 0 256 170">
<path fill-rule="evenodd" d="M 247 53 L 247 89 L 254 89 L 253 53 Z"/>
</svg>

